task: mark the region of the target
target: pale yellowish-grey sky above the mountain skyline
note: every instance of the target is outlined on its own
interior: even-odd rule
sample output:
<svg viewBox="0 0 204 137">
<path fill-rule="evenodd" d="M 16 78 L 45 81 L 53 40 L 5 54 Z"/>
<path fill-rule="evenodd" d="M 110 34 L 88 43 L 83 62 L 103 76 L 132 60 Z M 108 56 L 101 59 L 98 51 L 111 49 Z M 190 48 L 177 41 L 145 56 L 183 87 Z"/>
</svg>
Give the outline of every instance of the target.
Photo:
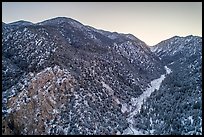
<svg viewBox="0 0 204 137">
<path fill-rule="evenodd" d="M 5 23 L 54 17 L 130 33 L 149 46 L 175 35 L 202 36 L 202 2 L 2 2 Z"/>
</svg>

